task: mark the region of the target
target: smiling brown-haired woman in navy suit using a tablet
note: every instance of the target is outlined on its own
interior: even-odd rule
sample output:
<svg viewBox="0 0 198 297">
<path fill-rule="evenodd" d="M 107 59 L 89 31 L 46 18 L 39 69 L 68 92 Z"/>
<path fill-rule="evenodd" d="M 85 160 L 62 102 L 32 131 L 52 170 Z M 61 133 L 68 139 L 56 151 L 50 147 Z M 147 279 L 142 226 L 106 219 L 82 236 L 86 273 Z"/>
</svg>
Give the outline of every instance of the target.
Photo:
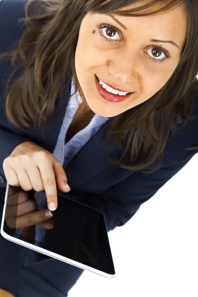
<svg viewBox="0 0 198 297">
<path fill-rule="evenodd" d="M 57 184 L 113 230 L 181 170 L 198 152 L 197 15 L 197 0 L 2 0 L 1 209 L 6 181 L 51 210 Z M 83 272 L 0 248 L 1 296 L 67 296 Z"/>
</svg>

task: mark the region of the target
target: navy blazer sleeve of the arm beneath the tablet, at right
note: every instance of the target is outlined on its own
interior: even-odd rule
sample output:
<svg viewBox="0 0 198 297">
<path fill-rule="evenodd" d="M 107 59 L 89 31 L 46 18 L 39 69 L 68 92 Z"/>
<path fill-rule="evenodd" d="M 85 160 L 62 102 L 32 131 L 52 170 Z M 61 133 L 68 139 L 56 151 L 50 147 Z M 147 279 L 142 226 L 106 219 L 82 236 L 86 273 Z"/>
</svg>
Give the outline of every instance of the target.
<svg viewBox="0 0 198 297">
<path fill-rule="evenodd" d="M 138 211 L 141 204 L 151 198 L 167 181 L 179 172 L 193 157 L 192 152 L 180 162 L 161 167 L 153 173 L 134 172 L 124 181 L 103 194 L 75 193 L 76 198 L 103 213 L 107 230 L 123 226 Z M 66 193 L 69 194 L 69 193 Z M 72 194 L 72 193 L 71 193 Z"/>
</svg>

